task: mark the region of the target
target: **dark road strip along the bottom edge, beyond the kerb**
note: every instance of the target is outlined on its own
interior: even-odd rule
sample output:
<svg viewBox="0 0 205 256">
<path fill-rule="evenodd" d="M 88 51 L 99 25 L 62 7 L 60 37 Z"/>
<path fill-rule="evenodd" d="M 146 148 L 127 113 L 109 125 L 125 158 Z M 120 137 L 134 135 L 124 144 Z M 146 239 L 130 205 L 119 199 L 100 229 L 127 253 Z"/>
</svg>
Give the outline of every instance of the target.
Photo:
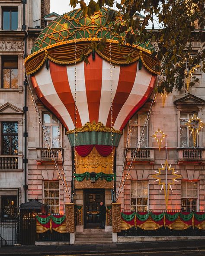
<svg viewBox="0 0 205 256">
<path fill-rule="evenodd" d="M 58 255 L 59 256 L 59 255 Z M 65 255 L 60 255 L 65 256 Z M 69 256 L 205 256 L 205 250 L 156 251 L 143 253 L 70 254 Z"/>
</svg>

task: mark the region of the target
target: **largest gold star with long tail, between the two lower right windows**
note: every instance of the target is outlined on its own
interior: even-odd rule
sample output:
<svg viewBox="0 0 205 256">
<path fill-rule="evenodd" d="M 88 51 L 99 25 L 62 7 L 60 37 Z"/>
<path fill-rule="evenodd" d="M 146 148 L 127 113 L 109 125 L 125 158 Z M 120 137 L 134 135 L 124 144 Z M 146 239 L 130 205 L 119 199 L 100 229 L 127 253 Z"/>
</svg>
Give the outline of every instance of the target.
<svg viewBox="0 0 205 256">
<path fill-rule="evenodd" d="M 161 164 L 161 165 L 162 165 L 162 164 Z M 165 180 L 165 181 L 163 181 L 163 182 L 161 181 L 162 178 L 160 177 L 160 175 L 163 175 L 162 171 L 165 171 L 165 172 L 164 172 L 164 175 L 165 175 L 164 180 Z M 173 178 L 169 179 L 169 181 L 166 182 L 166 172 L 168 172 L 168 171 L 171 171 L 171 173 L 169 173 L 169 174 L 167 173 L 167 175 L 172 175 Z M 170 189 L 171 189 L 171 191 L 172 191 L 172 193 L 173 193 L 173 190 L 172 190 L 172 186 L 171 186 L 171 185 L 174 185 L 174 184 L 175 184 L 175 183 L 174 183 L 175 181 L 176 181 L 176 182 L 179 182 L 177 179 L 178 179 L 178 178 L 181 178 L 181 175 L 176 174 L 176 173 L 179 172 L 179 171 L 175 171 L 174 168 L 171 168 L 171 164 L 170 164 L 170 166 L 169 166 L 167 159 L 166 159 L 164 165 L 162 165 L 162 168 L 158 168 L 158 172 L 157 172 L 157 171 L 154 171 L 154 172 L 157 173 L 157 174 L 152 175 L 153 178 L 156 178 L 156 180 L 155 180 L 154 182 L 158 181 L 158 184 L 159 184 L 159 185 L 162 185 L 162 186 L 161 186 L 160 193 L 161 193 L 162 189 L 164 189 L 164 198 L 165 198 L 165 203 L 166 203 L 166 208 L 167 208 Z M 167 183 L 167 189 L 166 189 L 166 183 Z"/>
</svg>

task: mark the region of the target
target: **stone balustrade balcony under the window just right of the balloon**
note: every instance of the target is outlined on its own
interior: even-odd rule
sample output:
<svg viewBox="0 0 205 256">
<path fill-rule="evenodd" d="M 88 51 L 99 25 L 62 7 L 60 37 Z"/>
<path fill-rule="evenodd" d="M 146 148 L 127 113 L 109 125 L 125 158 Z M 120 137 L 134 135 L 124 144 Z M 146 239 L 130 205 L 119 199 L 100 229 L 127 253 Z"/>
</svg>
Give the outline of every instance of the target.
<svg viewBox="0 0 205 256">
<path fill-rule="evenodd" d="M 154 149 L 150 148 L 144 148 L 144 149 L 138 149 L 135 153 L 136 149 L 128 149 L 128 158 L 127 158 L 127 164 L 131 162 L 131 159 L 133 158 L 133 164 L 134 165 L 141 165 L 141 164 L 154 164 Z"/>
</svg>

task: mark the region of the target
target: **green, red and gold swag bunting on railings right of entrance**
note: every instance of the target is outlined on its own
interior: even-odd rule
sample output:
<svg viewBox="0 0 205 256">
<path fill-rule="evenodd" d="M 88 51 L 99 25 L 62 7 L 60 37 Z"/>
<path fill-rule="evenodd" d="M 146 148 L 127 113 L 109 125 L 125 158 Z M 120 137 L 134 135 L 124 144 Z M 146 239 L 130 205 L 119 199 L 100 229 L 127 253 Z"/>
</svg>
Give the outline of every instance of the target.
<svg viewBox="0 0 205 256">
<path fill-rule="evenodd" d="M 121 230 L 139 227 L 143 230 L 157 230 L 166 227 L 173 230 L 185 230 L 197 227 L 205 230 L 205 213 L 121 213 Z"/>
</svg>

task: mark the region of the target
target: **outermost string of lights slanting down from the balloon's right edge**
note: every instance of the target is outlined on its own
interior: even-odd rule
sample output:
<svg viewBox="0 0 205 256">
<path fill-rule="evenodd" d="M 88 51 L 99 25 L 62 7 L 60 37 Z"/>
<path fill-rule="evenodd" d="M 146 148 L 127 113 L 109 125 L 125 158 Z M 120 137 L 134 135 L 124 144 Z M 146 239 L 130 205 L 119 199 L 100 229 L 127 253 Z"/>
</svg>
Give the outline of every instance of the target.
<svg viewBox="0 0 205 256">
<path fill-rule="evenodd" d="M 159 82 L 160 82 L 160 79 L 158 80 L 157 87 L 158 87 Z M 144 126 L 143 126 L 143 129 L 142 129 L 142 132 L 141 132 L 139 141 L 138 141 L 138 145 L 137 145 L 137 147 L 136 147 L 136 149 L 135 149 L 135 152 L 134 152 L 134 154 L 133 154 L 133 156 L 132 156 L 132 158 L 131 158 L 131 162 L 130 162 L 130 164 L 129 164 L 127 173 L 126 173 L 125 177 L 124 177 L 124 175 L 121 175 L 121 177 L 123 176 L 124 181 L 122 181 L 122 180 L 120 181 L 121 187 L 119 186 L 119 189 L 118 189 L 118 191 L 117 191 L 117 193 L 116 193 L 117 195 L 116 195 L 115 201 L 119 200 L 119 195 L 122 193 L 122 189 L 124 188 L 125 183 L 126 183 L 126 180 L 128 180 L 128 176 L 130 175 L 130 171 L 131 171 L 131 169 L 132 169 L 132 163 L 133 163 L 133 161 L 134 161 L 134 159 L 135 159 L 136 152 L 137 152 L 137 150 L 139 149 L 142 136 L 144 135 L 145 127 L 147 127 L 147 125 L 148 125 L 149 117 L 150 117 L 151 114 L 152 114 L 152 109 L 153 109 L 153 106 L 154 106 L 154 102 L 155 102 L 156 96 L 157 96 L 157 93 L 154 93 L 154 97 L 153 97 L 153 99 L 152 99 L 151 106 L 150 106 L 150 108 L 149 108 L 149 111 L 148 111 L 146 120 L 145 120 L 145 122 L 144 122 Z M 126 157 L 126 159 L 127 159 L 127 157 Z M 125 165 L 125 162 L 124 162 L 124 165 Z M 123 168 L 123 169 L 125 169 L 125 168 Z"/>
</svg>

